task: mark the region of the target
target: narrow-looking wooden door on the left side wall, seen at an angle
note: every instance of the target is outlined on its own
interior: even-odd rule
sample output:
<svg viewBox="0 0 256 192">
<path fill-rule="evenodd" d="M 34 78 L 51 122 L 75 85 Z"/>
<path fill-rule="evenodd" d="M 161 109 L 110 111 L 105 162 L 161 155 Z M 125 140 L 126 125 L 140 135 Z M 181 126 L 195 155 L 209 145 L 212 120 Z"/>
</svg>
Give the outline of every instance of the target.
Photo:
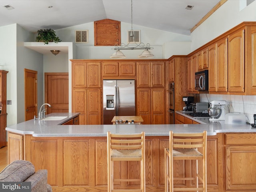
<svg viewBox="0 0 256 192">
<path fill-rule="evenodd" d="M 25 121 L 37 114 L 37 71 L 24 69 Z"/>
</svg>

